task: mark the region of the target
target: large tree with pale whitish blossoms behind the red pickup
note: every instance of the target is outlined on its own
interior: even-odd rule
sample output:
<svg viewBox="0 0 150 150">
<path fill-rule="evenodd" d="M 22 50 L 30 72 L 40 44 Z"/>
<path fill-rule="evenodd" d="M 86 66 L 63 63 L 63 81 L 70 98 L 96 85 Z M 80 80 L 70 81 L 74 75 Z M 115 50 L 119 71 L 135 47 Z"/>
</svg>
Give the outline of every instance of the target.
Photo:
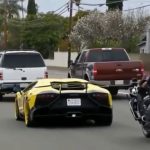
<svg viewBox="0 0 150 150">
<path fill-rule="evenodd" d="M 138 12 L 140 14 L 140 12 Z M 124 47 L 128 52 L 137 50 L 141 33 L 148 19 L 144 14 L 117 11 L 92 12 L 82 17 L 73 27 L 70 40 L 76 49 L 91 47 Z"/>
</svg>

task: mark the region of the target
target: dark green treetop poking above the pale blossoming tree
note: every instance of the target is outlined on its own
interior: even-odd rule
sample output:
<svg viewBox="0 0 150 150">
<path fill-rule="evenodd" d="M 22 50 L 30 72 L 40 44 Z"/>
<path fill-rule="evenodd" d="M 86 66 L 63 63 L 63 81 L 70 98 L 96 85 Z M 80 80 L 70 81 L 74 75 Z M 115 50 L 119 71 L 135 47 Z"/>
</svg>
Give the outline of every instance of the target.
<svg viewBox="0 0 150 150">
<path fill-rule="evenodd" d="M 108 10 L 123 9 L 123 0 L 106 0 Z"/>
</svg>

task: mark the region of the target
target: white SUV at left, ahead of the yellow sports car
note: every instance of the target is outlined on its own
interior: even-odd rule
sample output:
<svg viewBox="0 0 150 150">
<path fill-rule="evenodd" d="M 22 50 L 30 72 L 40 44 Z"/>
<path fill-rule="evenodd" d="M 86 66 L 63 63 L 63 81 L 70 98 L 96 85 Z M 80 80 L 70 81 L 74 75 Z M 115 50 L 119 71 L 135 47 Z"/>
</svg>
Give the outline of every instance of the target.
<svg viewBox="0 0 150 150">
<path fill-rule="evenodd" d="M 47 78 L 48 72 L 41 54 L 37 51 L 0 52 L 0 100 L 4 94 L 14 92 L 40 78 Z"/>
</svg>

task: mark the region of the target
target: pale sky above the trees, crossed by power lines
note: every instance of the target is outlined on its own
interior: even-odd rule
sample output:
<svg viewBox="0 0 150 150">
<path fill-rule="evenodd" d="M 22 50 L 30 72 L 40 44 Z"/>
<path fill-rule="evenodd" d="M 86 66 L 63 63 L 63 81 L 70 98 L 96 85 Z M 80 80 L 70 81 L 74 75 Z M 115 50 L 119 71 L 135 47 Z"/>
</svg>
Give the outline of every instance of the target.
<svg viewBox="0 0 150 150">
<path fill-rule="evenodd" d="M 27 6 L 27 2 L 28 2 L 28 0 L 25 0 L 25 2 L 24 2 L 24 7 L 25 8 Z M 63 16 L 69 16 L 69 12 L 67 11 L 67 8 L 66 8 L 65 13 L 63 13 L 63 11 L 61 12 L 61 10 L 64 7 L 62 9 L 56 11 L 61 6 L 65 5 L 67 2 L 69 2 L 69 0 L 35 0 L 35 2 L 38 5 L 38 11 L 39 12 L 46 13 L 46 12 L 49 12 L 49 11 L 55 11 L 55 13 L 57 13 L 57 14 L 61 14 Z M 106 0 L 81 0 L 81 2 L 86 3 L 86 4 L 105 4 Z M 149 5 L 147 7 L 144 7 L 144 10 L 146 12 L 150 13 L 150 0 L 125 0 L 123 2 L 123 4 L 124 4 L 123 5 L 124 10 Z M 106 5 L 103 5 L 101 7 L 81 5 L 80 9 L 81 10 L 94 10 L 94 9 L 97 9 L 97 10 L 100 10 L 100 11 L 104 12 L 104 11 L 106 11 L 107 7 L 106 7 Z M 73 5 L 73 14 L 75 14 L 77 11 L 78 11 L 78 8 L 75 5 Z"/>
</svg>

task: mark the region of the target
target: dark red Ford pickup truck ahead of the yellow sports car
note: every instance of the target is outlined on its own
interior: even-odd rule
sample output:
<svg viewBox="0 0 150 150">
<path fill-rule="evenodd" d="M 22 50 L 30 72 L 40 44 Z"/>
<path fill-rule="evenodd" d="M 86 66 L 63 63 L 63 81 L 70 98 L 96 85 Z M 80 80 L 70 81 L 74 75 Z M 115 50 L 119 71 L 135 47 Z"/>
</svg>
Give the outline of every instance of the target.
<svg viewBox="0 0 150 150">
<path fill-rule="evenodd" d="M 130 60 L 124 48 L 93 48 L 82 50 L 71 62 L 68 77 L 86 79 L 116 95 L 119 89 L 128 89 L 133 79 L 141 79 L 143 73 L 143 63 Z"/>
</svg>

